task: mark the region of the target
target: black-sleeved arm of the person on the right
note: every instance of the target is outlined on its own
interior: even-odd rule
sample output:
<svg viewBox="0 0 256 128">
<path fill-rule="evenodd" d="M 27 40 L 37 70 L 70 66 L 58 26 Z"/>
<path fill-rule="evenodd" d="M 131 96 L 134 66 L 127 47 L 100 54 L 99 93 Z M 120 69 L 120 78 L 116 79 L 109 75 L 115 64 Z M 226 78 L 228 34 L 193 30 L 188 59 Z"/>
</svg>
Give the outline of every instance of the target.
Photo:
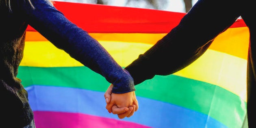
<svg viewBox="0 0 256 128">
<path fill-rule="evenodd" d="M 169 75 L 187 67 L 235 22 L 239 17 L 237 3 L 226 0 L 219 4 L 218 1 L 221 2 L 199 0 L 178 26 L 125 68 L 135 85 L 155 75 Z"/>
</svg>

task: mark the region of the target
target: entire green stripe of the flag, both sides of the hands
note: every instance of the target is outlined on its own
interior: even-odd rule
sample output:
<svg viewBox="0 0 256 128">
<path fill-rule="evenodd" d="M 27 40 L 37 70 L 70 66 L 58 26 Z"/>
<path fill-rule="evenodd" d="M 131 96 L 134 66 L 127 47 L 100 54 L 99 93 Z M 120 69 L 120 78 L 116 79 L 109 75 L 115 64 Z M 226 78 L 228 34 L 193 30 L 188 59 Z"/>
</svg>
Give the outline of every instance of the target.
<svg viewBox="0 0 256 128">
<path fill-rule="evenodd" d="M 110 85 L 87 67 L 20 66 L 17 77 L 22 79 L 24 87 L 49 85 L 104 92 Z M 243 121 L 245 117 L 246 102 L 238 95 L 206 82 L 175 75 L 155 76 L 137 85 L 136 89 L 137 96 L 207 114 L 231 128 L 240 124 L 237 119 Z"/>
</svg>

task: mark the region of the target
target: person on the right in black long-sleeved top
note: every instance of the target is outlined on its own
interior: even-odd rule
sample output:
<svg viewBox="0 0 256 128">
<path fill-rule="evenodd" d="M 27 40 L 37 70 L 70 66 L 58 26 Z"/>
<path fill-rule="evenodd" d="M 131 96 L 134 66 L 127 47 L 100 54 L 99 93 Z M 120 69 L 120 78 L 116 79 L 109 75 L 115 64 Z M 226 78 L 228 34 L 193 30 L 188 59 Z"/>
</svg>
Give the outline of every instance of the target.
<svg viewBox="0 0 256 128">
<path fill-rule="evenodd" d="M 198 0 L 180 23 L 125 69 L 135 85 L 155 75 L 180 71 L 198 59 L 219 34 L 240 16 L 249 28 L 247 61 L 247 118 L 255 128 L 256 105 L 256 18 L 253 0 Z M 111 89 L 111 87 L 109 87 Z M 106 91 L 105 97 L 111 97 Z M 110 107 L 109 107 L 110 108 Z M 108 108 L 108 109 L 109 109 Z"/>
</svg>

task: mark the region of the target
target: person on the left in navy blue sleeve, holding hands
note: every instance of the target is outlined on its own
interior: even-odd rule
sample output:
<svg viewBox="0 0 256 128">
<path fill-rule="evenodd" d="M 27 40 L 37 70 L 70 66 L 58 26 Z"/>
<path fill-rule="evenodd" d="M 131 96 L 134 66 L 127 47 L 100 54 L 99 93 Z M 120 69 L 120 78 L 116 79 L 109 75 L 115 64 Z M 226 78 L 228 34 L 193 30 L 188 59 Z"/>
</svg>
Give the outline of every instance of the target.
<svg viewBox="0 0 256 128">
<path fill-rule="evenodd" d="M 1 126 L 35 128 L 28 93 L 17 78 L 28 25 L 35 28 L 54 46 L 106 78 L 113 84 L 113 93 L 126 96 L 127 102 L 122 104 L 129 108 L 120 108 L 120 112 L 126 112 L 130 116 L 137 110 L 138 105 L 133 105 L 137 104 L 137 99 L 130 74 L 116 63 L 98 41 L 67 20 L 63 13 L 53 6 L 52 1 L 0 0 L 0 17 Z"/>
</svg>

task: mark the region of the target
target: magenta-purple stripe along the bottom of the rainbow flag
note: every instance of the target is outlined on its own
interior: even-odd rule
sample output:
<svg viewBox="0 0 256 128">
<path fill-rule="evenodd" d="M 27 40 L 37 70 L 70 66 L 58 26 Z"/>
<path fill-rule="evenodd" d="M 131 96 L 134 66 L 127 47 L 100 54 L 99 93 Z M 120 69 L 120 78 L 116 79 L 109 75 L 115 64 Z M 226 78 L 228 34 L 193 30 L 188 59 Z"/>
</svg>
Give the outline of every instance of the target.
<svg viewBox="0 0 256 128">
<path fill-rule="evenodd" d="M 133 122 L 80 113 L 34 111 L 34 114 L 37 128 L 150 128 Z"/>
</svg>

